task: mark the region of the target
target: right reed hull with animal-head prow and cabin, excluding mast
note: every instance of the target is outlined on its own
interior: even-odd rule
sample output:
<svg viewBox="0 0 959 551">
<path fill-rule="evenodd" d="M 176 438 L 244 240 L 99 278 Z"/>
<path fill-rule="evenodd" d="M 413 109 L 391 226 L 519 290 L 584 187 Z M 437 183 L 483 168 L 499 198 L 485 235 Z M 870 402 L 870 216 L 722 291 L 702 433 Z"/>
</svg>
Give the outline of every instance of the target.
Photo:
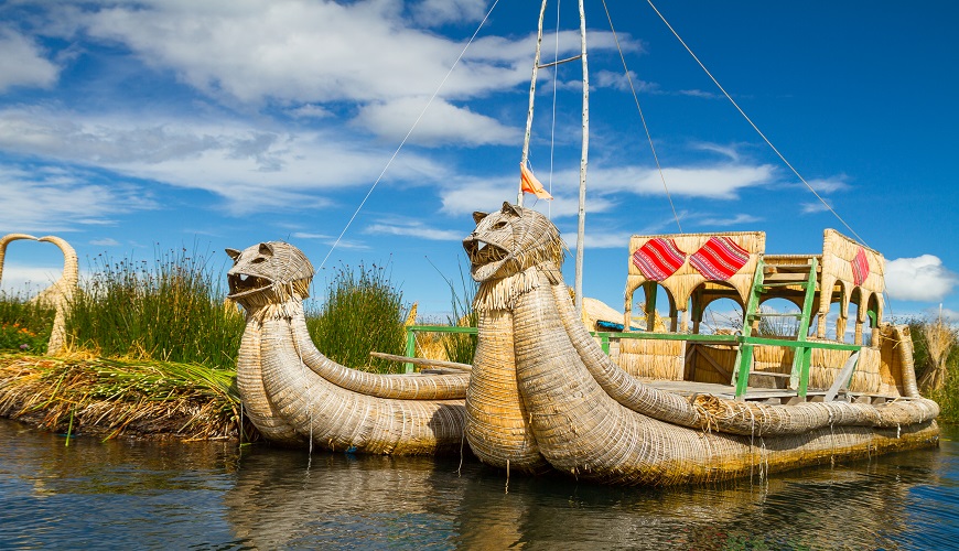
<svg viewBox="0 0 959 551">
<path fill-rule="evenodd" d="M 476 230 L 463 241 L 481 283 L 466 440 L 484 463 L 667 485 L 938 443 L 939 408 L 915 390 L 908 333 L 881 325 L 876 315 L 882 259 L 834 231 L 827 231 L 822 255 L 768 258 L 776 264 L 764 263 L 762 234 L 634 238 L 627 305 L 632 290 L 644 288 L 648 305 L 656 287 L 665 288 L 674 332 L 603 335 L 619 341 L 614 360 L 573 307 L 556 226 L 509 204 L 474 218 Z M 802 305 L 797 338 L 754 336 L 763 318 L 758 304 L 769 295 Z M 687 304 L 701 320 L 704 305 L 720 296 L 744 305 L 741 335 L 688 334 L 678 324 Z M 873 344 L 807 339 L 817 298 L 820 320 L 821 305 L 858 299 L 858 326 L 870 321 Z M 624 322 L 629 327 L 633 320 Z M 753 354 L 763 347 L 777 347 L 779 356 Z M 822 365 L 837 358 L 815 350 L 847 358 Z M 761 379 L 788 382 L 751 386 Z M 821 391 L 813 390 L 817 381 Z"/>
</svg>

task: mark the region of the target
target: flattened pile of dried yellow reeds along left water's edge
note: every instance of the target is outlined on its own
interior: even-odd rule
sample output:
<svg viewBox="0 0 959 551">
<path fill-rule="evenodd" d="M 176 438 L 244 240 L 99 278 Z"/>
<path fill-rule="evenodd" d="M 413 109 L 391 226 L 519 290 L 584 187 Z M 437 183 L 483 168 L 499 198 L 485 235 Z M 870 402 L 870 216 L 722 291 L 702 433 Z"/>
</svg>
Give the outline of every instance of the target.
<svg viewBox="0 0 959 551">
<path fill-rule="evenodd" d="M 0 355 L 0 417 L 112 439 L 240 437 L 234 374 L 191 364 Z M 256 439 L 246 426 L 244 440 Z"/>
</svg>

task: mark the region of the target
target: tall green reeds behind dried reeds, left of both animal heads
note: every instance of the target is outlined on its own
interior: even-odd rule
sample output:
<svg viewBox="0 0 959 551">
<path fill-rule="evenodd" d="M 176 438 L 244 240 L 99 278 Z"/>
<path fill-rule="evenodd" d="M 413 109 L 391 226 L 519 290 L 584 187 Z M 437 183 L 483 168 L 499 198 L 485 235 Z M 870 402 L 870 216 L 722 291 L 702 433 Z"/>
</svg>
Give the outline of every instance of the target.
<svg viewBox="0 0 959 551">
<path fill-rule="evenodd" d="M 91 261 L 71 304 L 66 328 L 74 349 L 107 357 L 233 368 L 243 315 L 225 304 L 226 289 L 202 253 L 185 248 L 154 260 Z"/>
</svg>

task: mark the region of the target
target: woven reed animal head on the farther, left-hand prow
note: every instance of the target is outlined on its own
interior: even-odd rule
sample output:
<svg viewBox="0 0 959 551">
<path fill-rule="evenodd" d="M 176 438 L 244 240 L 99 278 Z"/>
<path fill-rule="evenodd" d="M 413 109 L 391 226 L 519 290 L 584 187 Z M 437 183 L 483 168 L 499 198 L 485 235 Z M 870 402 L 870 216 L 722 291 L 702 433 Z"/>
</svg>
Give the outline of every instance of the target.
<svg viewBox="0 0 959 551">
<path fill-rule="evenodd" d="M 243 251 L 226 249 L 233 259 L 227 272 L 229 299 L 246 309 L 310 296 L 313 264 L 303 251 L 283 241 L 269 241 Z"/>
</svg>

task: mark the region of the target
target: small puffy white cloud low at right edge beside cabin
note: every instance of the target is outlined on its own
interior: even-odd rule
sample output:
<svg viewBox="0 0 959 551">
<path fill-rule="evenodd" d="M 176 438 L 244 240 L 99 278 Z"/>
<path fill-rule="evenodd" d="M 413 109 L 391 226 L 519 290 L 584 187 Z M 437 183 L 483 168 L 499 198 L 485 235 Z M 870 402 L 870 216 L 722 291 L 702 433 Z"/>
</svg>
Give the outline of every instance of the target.
<svg viewBox="0 0 959 551">
<path fill-rule="evenodd" d="M 886 260 L 885 279 L 890 298 L 902 301 L 941 301 L 959 284 L 959 276 L 934 255 Z"/>
</svg>

